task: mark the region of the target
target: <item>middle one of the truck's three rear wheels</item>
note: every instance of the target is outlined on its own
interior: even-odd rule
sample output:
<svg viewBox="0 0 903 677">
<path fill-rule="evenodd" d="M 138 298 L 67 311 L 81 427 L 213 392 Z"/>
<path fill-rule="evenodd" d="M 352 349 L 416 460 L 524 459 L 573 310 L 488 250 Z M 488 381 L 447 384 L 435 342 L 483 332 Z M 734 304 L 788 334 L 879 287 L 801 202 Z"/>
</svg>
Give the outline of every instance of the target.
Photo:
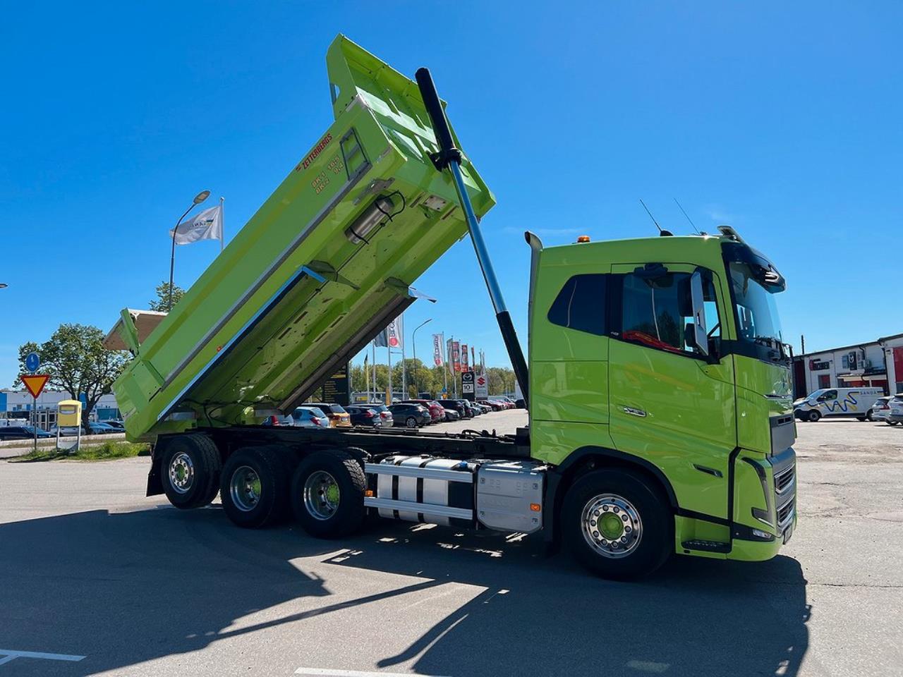
<svg viewBox="0 0 903 677">
<path fill-rule="evenodd" d="M 255 529 L 285 515 L 288 473 L 278 449 L 248 447 L 232 454 L 223 467 L 219 496 L 228 518 Z"/>
</svg>

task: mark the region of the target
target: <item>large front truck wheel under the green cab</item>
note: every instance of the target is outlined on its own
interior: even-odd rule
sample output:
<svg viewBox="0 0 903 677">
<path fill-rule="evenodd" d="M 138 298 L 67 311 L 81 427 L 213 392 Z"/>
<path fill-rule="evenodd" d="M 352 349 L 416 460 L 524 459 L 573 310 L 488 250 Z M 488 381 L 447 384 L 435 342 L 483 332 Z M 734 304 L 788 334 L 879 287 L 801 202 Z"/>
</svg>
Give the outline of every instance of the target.
<svg viewBox="0 0 903 677">
<path fill-rule="evenodd" d="M 577 561 L 602 578 L 638 579 L 673 552 L 664 496 L 628 470 L 595 470 L 564 496 L 562 534 Z"/>
</svg>

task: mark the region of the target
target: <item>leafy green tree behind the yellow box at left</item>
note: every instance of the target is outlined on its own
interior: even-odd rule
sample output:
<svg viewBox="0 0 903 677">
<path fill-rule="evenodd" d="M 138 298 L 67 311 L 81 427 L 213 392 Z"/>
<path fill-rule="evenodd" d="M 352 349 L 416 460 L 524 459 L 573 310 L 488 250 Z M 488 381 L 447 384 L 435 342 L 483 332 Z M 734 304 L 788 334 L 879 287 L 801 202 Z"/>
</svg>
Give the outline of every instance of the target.
<svg viewBox="0 0 903 677">
<path fill-rule="evenodd" d="M 48 386 L 65 390 L 78 398 L 84 393 L 86 404 L 82 424 L 88 431 L 88 414 L 94 411 L 101 395 L 112 392 L 111 386 L 122 373 L 128 353 L 107 350 L 103 346 L 104 332 L 84 324 L 61 324 L 50 340 L 40 346 L 29 341 L 19 347 L 19 376 L 13 387 L 22 385 L 25 357 L 35 352 L 41 356 L 41 371 L 50 376 Z"/>
</svg>

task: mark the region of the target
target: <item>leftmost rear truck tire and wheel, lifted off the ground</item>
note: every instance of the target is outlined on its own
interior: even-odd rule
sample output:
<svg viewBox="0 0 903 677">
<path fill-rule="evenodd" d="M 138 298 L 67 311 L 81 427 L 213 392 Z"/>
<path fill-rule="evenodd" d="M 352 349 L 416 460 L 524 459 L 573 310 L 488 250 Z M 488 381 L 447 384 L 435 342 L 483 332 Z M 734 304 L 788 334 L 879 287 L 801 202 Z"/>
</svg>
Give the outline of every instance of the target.
<svg viewBox="0 0 903 677">
<path fill-rule="evenodd" d="M 178 435 L 160 459 L 163 493 L 177 508 L 208 505 L 219 491 L 219 450 L 203 435 Z"/>
</svg>

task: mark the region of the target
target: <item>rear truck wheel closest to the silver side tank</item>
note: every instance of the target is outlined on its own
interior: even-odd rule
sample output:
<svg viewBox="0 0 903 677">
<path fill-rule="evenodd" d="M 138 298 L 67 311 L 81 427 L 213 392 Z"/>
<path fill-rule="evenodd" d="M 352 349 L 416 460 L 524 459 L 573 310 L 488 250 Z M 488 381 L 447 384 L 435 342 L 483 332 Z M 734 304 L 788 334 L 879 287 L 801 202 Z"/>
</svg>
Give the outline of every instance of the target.
<svg viewBox="0 0 903 677">
<path fill-rule="evenodd" d="M 348 451 L 314 451 L 294 471 L 294 515 L 317 538 L 347 536 L 364 520 L 366 488 L 364 469 Z"/>
</svg>

